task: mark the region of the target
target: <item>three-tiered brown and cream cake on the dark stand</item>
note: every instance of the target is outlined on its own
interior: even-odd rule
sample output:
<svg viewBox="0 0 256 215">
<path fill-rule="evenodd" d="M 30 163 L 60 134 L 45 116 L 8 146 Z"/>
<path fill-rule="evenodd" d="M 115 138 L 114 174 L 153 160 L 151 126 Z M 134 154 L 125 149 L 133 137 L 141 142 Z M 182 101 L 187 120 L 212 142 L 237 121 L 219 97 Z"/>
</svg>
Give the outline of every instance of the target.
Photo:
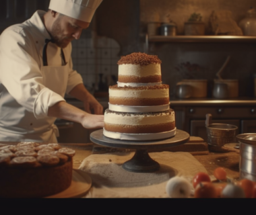
<svg viewBox="0 0 256 215">
<path fill-rule="evenodd" d="M 117 85 L 109 87 L 104 136 L 121 140 L 158 140 L 176 134 L 169 86 L 162 84 L 158 56 L 122 56 Z"/>
</svg>

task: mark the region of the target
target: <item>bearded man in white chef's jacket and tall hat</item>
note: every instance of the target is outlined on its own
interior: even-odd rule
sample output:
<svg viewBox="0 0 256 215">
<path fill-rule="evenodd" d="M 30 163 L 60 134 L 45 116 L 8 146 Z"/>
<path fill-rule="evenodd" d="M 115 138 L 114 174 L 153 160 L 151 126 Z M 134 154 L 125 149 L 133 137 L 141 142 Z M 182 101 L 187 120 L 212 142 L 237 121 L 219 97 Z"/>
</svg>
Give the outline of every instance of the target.
<svg viewBox="0 0 256 215">
<path fill-rule="evenodd" d="M 102 0 L 51 0 L 0 36 L 0 141 L 57 142 L 57 118 L 102 128 L 103 107 L 73 70 L 71 41 L 88 28 Z M 67 103 L 83 101 L 85 111 Z M 92 114 L 93 113 L 93 114 Z"/>
</svg>

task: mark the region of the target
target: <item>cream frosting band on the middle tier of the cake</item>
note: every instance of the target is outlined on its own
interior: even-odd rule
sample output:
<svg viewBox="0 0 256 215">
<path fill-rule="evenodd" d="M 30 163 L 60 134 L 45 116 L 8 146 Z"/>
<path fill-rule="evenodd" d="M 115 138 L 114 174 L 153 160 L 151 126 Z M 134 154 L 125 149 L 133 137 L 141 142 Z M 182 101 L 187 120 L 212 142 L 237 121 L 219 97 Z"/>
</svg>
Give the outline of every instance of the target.
<svg viewBox="0 0 256 215">
<path fill-rule="evenodd" d="M 164 98 L 169 97 L 168 89 L 110 89 L 110 97 L 129 97 L 129 98 Z"/>
</svg>

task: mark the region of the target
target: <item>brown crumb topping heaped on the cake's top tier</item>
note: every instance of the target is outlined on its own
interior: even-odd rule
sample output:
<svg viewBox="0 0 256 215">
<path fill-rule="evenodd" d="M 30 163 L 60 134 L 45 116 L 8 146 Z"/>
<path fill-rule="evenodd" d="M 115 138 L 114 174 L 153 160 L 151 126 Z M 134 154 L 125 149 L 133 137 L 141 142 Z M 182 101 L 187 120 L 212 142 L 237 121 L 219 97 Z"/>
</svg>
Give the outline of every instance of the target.
<svg viewBox="0 0 256 215">
<path fill-rule="evenodd" d="M 156 55 L 150 55 L 141 52 L 133 52 L 126 56 L 121 56 L 121 59 L 117 64 L 139 64 L 141 66 L 146 66 L 153 63 L 162 63 L 162 61 Z"/>
</svg>

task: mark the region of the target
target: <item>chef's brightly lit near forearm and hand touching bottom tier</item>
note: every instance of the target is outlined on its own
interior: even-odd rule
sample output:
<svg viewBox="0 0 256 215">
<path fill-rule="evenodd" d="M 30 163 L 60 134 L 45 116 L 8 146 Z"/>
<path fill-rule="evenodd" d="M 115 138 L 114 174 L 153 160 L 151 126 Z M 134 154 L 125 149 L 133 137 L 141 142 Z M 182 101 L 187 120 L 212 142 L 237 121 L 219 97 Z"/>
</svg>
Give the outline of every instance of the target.
<svg viewBox="0 0 256 215">
<path fill-rule="evenodd" d="M 48 116 L 61 118 L 63 120 L 70 120 L 78 122 L 84 126 L 84 128 L 103 128 L 104 116 L 92 115 L 84 112 L 83 110 L 70 105 L 65 101 L 59 101 L 55 105 L 49 107 Z"/>
</svg>

